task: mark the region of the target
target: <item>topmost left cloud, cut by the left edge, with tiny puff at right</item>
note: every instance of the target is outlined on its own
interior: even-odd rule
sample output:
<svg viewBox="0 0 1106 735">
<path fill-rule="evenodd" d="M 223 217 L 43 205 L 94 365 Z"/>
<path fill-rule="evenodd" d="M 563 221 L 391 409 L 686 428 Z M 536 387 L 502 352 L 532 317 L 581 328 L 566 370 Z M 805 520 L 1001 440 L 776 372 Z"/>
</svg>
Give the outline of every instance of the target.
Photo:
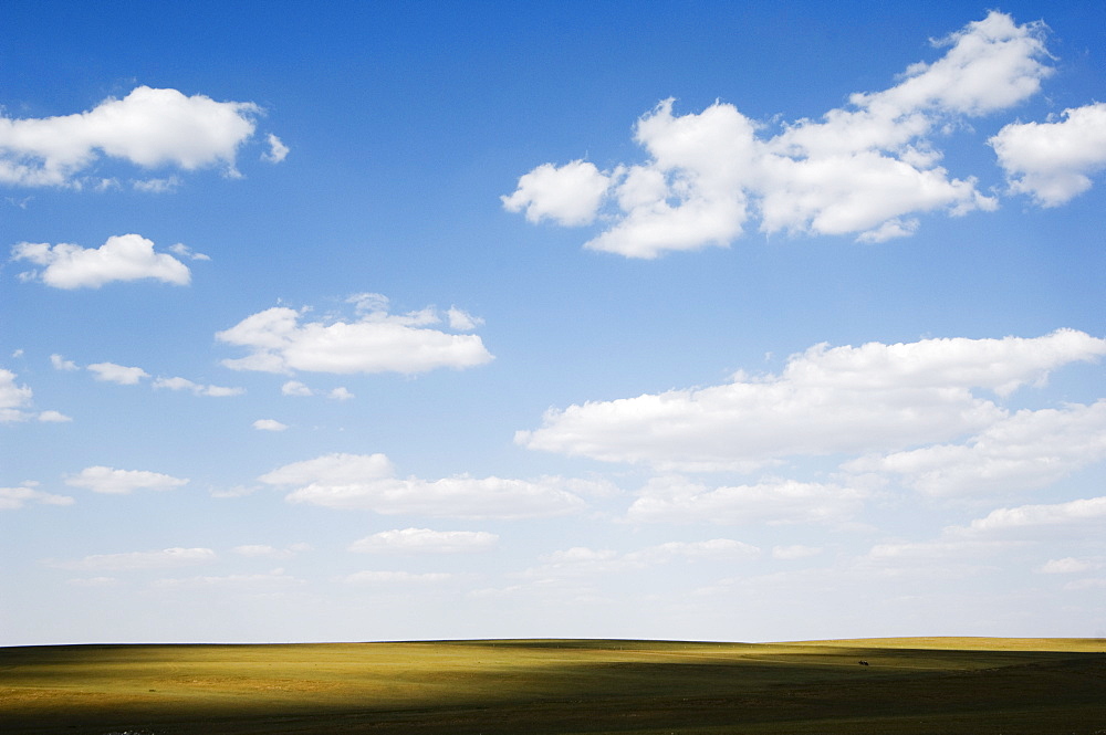
<svg viewBox="0 0 1106 735">
<path fill-rule="evenodd" d="M 237 176 L 239 147 L 253 136 L 261 109 L 249 102 L 139 86 L 122 99 L 56 117 L 0 117 L 0 182 L 80 188 L 84 172 L 103 158 L 143 169 L 221 167 Z M 286 148 L 270 138 L 270 160 Z"/>
</svg>

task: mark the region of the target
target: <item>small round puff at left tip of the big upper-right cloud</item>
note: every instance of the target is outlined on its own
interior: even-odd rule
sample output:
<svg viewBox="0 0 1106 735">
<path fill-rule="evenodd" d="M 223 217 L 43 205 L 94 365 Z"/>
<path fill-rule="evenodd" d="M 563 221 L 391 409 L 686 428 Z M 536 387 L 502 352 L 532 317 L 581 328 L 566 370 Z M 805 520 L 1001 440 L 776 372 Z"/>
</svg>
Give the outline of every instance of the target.
<svg viewBox="0 0 1106 735">
<path fill-rule="evenodd" d="M 530 222 L 551 219 L 559 224 L 589 224 L 609 187 L 611 178 L 589 161 L 561 167 L 543 164 L 519 178 L 514 193 L 500 199 L 509 212 L 525 211 Z"/>
</svg>

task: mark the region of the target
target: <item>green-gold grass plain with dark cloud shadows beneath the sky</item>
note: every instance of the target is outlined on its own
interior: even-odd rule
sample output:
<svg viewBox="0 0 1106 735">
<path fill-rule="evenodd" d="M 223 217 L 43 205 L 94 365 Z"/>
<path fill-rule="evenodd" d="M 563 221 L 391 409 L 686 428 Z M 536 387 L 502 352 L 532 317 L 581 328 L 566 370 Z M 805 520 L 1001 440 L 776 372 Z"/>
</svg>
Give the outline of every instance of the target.
<svg viewBox="0 0 1106 735">
<path fill-rule="evenodd" d="M 0 733 L 1106 735 L 1106 641 L 7 648 Z"/>
</svg>

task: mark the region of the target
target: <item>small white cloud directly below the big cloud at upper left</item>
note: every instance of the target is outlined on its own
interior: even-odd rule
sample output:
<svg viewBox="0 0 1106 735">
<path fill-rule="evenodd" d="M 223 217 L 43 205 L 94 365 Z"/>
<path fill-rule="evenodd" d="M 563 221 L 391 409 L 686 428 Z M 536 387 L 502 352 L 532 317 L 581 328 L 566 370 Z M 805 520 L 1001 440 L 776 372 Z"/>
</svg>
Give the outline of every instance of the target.
<svg viewBox="0 0 1106 735">
<path fill-rule="evenodd" d="M 45 266 L 28 271 L 24 281 L 40 280 L 55 288 L 98 288 L 113 281 L 154 279 L 188 285 L 188 266 L 168 253 L 154 252 L 154 243 L 138 234 L 112 235 L 100 248 L 69 243 L 22 242 L 12 248 L 12 260 Z"/>
</svg>

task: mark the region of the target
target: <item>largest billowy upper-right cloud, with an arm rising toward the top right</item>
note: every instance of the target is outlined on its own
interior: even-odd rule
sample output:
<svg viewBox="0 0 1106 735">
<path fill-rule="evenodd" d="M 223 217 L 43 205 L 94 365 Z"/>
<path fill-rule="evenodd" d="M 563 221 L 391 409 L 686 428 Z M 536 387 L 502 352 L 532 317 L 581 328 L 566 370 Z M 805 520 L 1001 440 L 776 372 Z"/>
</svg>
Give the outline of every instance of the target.
<svg viewBox="0 0 1106 735">
<path fill-rule="evenodd" d="M 914 232 L 918 213 L 994 209 L 974 178 L 939 165 L 933 133 L 1035 94 L 1052 73 L 1043 32 L 991 12 L 937 42 L 945 55 L 912 64 L 895 86 L 782 127 L 724 103 L 676 115 L 668 99 L 637 123 L 646 162 L 544 164 L 503 206 L 533 222 L 602 219 L 606 229 L 586 246 L 630 258 L 726 245 L 750 220 L 765 233 L 881 241 Z"/>
</svg>

